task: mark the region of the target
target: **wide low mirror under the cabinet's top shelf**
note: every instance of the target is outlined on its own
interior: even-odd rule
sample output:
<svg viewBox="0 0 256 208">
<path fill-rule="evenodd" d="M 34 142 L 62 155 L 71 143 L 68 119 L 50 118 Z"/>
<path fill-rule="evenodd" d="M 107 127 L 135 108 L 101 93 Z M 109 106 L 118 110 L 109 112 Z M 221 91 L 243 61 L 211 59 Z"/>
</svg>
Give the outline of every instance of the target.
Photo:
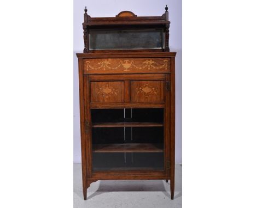
<svg viewBox="0 0 256 208">
<path fill-rule="evenodd" d="M 162 29 L 89 30 L 90 50 L 161 49 Z"/>
</svg>

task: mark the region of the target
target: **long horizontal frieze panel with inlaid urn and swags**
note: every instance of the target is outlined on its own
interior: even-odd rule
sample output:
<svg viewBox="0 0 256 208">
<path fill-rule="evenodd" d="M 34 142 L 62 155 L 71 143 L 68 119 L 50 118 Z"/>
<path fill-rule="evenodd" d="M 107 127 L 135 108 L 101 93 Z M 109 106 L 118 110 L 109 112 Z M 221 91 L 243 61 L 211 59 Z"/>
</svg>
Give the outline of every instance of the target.
<svg viewBox="0 0 256 208">
<path fill-rule="evenodd" d="M 170 73 L 170 58 L 84 59 L 84 74 Z"/>
</svg>

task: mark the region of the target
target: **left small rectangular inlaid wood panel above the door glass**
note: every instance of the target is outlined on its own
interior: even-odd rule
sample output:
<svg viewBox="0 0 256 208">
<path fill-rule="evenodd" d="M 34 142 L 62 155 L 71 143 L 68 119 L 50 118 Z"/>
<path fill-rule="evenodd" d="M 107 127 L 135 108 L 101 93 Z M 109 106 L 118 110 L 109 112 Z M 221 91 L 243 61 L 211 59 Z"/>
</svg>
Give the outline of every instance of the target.
<svg viewBox="0 0 256 208">
<path fill-rule="evenodd" d="M 91 102 L 124 102 L 124 82 L 90 82 Z"/>
</svg>

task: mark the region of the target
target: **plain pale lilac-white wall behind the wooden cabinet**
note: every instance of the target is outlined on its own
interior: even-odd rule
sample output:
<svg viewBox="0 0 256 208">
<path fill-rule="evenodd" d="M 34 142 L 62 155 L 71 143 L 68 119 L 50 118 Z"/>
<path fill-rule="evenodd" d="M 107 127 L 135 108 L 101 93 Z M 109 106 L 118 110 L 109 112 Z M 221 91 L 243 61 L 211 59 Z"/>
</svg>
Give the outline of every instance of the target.
<svg viewBox="0 0 256 208">
<path fill-rule="evenodd" d="M 182 1 L 146 1 L 146 0 L 110 0 L 110 1 L 82 1 L 74 0 L 74 163 L 81 162 L 80 146 L 80 116 L 79 116 L 79 84 L 78 59 L 75 53 L 82 53 L 84 49 L 83 27 L 84 9 L 87 7 L 91 17 L 114 17 L 120 11 L 128 10 L 137 16 L 161 16 L 168 6 L 170 24 L 170 51 L 176 51 L 176 163 L 182 163 Z"/>
</svg>

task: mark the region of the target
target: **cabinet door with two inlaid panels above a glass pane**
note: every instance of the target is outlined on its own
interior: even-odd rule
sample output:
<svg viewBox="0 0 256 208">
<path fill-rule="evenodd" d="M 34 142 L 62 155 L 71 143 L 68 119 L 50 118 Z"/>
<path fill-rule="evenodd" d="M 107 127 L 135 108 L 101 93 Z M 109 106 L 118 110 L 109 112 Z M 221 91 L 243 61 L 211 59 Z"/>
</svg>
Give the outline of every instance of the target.
<svg viewBox="0 0 256 208">
<path fill-rule="evenodd" d="M 89 76 L 88 162 L 92 172 L 167 171 L 166 76 L 150 77 Z"/>
</svg>

